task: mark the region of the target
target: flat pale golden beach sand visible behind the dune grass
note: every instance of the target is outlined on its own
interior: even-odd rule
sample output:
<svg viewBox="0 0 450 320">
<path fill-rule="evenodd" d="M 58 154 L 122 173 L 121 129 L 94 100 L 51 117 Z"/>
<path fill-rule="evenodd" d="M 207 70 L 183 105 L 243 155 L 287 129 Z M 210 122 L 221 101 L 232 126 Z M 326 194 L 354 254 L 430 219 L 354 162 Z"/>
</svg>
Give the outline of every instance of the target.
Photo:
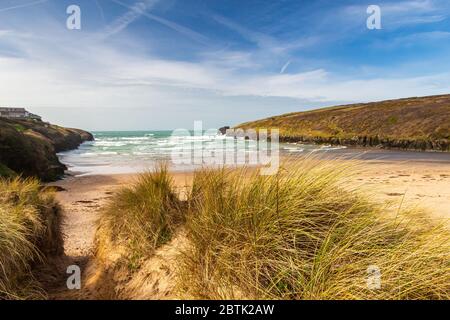
<svg viewBox="0 0 450 320">
<path fill-rule="evenodd" d="M 353 188 L 370 193 L 375 201 L 389 201 L 393 208 L 420 206 L 433 219 L 450 219 L 450 162 L 363 160 L 361 164 L 360 173 L 351 180 Z M 57 193 L 57 199 L 64 212 L 67 256 L 86 257 L 92 253 L 98 210 L 117 188 L 130 185 L 137 176 L 86 175 L 51 184 L 65 189 Z M 174 172 L 172 176 L 183 194 L 193 173 Z"/>
</svg>

